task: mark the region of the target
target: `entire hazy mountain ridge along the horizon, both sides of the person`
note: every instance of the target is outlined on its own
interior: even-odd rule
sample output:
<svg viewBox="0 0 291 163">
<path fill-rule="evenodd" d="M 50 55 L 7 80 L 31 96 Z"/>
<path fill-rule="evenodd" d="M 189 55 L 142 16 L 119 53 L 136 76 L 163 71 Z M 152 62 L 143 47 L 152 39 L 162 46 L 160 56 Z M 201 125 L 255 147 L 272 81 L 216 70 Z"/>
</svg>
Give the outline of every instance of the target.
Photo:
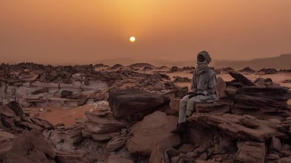
<svg viewBox="0 0 291 163">
<path fill-rule="evenodd" d="M 134 63 L 150 63 L 155 66 L 195 66 L 195 60 L 167 60 L 167 59 L 156 59 L 156 60 L 136 60 L 133 58 L 115 58 L 108 60 L 100 60 L 98 63 L 104 63 L 107 65 L 131 65 Z M 257 58 L 253 60 L 213 60 L 211 63 L 212 67 L 232 67 L 236 70 L 243 69 L 244 67 L 251 67 L 254 70 L 259 70 L 262 68 L 276 68 L 280 69 L 291 69 L 291 54 L 282 54 L 277 57 L 270 58 Z"/>
</svg>

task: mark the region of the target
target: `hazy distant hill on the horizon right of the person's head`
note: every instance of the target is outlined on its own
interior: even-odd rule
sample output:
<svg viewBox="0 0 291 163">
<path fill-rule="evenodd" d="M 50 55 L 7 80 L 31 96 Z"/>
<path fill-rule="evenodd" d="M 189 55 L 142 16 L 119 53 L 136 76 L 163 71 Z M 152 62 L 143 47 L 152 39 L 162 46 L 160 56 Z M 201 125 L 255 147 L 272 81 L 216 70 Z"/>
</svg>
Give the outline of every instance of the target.
<svg viewBox="0 0 291 163">
<path fill-rule="evenodd" d="M 236 70 L 243 69 L 244 67 L 251 67 L 252 69 L 259 70 L 261 68 L 276 68 L 291 69 L 291 54 L 282 54 L 281 56 L 271 58 L 258 58 L 254 60 L 214 60 L 214 67 L 232 67 Z"/>
</svg>

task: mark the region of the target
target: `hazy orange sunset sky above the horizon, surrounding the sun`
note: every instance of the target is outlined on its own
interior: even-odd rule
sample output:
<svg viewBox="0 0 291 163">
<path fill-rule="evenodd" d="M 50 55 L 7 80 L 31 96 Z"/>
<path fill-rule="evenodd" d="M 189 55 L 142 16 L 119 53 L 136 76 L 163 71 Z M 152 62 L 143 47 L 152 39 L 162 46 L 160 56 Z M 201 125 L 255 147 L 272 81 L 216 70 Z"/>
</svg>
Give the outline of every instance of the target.
<svg viewBox="0 0 291 163">
<path fill-rule="evenodd" d="M 291 0 L 0 1 L 0 63 L 193 60 L 202 50 L 218 60 L 291 53 Z"/>
</svg>

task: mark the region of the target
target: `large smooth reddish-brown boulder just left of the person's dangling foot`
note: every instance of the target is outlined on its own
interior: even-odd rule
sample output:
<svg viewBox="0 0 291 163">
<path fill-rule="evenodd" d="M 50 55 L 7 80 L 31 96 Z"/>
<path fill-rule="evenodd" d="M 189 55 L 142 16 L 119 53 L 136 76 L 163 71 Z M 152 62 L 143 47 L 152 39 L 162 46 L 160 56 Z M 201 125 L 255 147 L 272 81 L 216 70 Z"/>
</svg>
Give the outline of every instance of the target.
<svg viewBox="0 0 291 163">
<path fill-rule="evenodd" d="M 145 116 L 141 122 L 134 125 L 134 137 L 127 141 L 127 149 L 130 153 L 150 155 L 157 144 L 164 149 L 179 145 L 179 136 L 171 133 L 176 128 L 177 121 L 176 117 L 167 116 L 160 111 Z"/>
</svg>

